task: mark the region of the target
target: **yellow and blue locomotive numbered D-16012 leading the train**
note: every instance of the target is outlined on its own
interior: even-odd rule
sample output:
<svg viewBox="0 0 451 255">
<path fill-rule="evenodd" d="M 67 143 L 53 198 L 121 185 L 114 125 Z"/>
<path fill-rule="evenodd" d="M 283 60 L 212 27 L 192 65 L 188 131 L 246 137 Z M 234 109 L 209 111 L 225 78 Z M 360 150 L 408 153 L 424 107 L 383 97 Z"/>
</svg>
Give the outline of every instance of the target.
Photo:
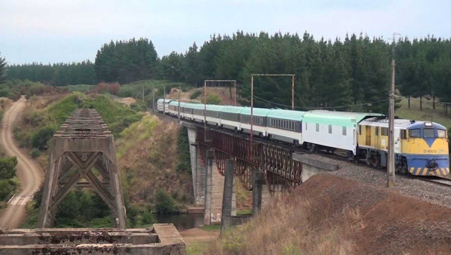
<svg viewBox="0 0 451 255">
<path fill-rule="evenodd" d="M 386 166 L 388 120 L 372 117 L 359 123 L 358 153 L 372 165 Z M 444 176 L 449 173 L 446 127 L 427 121 L 395 119 L 396 170 L 413 175 Z"/>
</svg>

